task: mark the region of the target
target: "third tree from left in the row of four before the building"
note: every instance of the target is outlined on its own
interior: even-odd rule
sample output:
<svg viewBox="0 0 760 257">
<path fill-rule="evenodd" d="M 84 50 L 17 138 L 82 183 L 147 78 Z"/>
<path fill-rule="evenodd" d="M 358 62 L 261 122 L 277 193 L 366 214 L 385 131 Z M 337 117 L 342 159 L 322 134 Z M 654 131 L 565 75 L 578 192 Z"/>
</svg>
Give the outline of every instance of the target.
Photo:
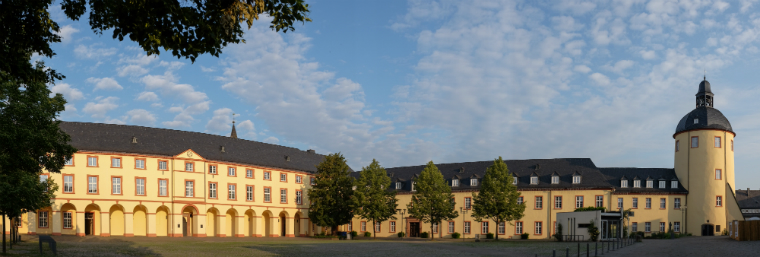
<svg viewBox="0 0 760 257">
<path fill-rule="evenodd" d="M 443 175 L 433 161 L 428 162 L 419 177 L 412 183 L 412 190 L 416 191 L 412 195 L 411 203 L 407 205 L 409 214 L 422 222 L 429 222 L 430 232 L 433 231 L 433 224 L 459 217 L 459 213 L 454 210 L 454 195 L 451 194 L 451 187 L 443 179 Z M 430 240 L 433 240 L 435 235 L 430 234 Z"/>
</svg>

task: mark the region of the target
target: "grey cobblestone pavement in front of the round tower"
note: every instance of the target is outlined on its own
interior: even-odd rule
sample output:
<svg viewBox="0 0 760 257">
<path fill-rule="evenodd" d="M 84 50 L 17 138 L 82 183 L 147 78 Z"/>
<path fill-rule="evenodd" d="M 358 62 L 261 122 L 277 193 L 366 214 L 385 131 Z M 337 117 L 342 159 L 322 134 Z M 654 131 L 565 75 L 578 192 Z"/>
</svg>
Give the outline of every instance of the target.
<svg viewBox="0 0 760 257">
<path fill-rule="evenodd" d="M 593 256 L 593 253 L 591 254 Z M 601 256 L 601 255 L 600 255 Z M 760 241 L 735 241 L 728 236 L 649 239 L 642 243 L 605 253 L 610 257 L 660 256 L 760 256 Z"/>
</svg>

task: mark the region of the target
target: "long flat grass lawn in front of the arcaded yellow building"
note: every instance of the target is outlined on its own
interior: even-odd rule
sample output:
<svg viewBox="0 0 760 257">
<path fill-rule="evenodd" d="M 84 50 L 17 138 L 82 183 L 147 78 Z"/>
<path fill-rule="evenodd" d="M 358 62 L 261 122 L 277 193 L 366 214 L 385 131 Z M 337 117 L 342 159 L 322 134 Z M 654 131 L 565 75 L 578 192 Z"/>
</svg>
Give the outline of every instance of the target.
<svg viewBox="0 0 760 257">
<path fill-rule="evenodd" d="M 577 253 L 577 243 L 509 240 L 462 242 L 426 240 L 351 240 L 311 238 L 145 238 L 56 236 L 58 256 L 551 256 L 565 248 Z M 583 256 L 586 244 L 581 243 Z M 600 246 L 601 247 L 601 246 Z M 594 244 L 591 244 L 591 256 Z M 10 256 L 53 256 L 47 246 L 40 255 L 36 236 L 9 251 Z M 562 254 L 560 254 L 562 253 Z"/>
</svg>

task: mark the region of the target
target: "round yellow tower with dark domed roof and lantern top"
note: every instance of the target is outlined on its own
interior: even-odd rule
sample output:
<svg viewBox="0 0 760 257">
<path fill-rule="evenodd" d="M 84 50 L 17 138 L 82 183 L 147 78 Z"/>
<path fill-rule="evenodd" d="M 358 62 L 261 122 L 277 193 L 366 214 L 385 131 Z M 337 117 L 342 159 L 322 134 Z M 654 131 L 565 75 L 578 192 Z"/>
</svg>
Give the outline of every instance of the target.
<svg viewBox="0 0 760 257">
<path fill-rule="evenodd" d="M 728 119 L 714 108 L 713 96 L 710 82 L 702 80 L 696 108 L 681 118 L 673 134 L 675 172 L 689 190 L 684 203 L 685 232 L 695 236 L 720 235 L 731 221 L 727 218 L 728 209 L 736 203 L 733 195 L 736 133 Z"/>
</svg>

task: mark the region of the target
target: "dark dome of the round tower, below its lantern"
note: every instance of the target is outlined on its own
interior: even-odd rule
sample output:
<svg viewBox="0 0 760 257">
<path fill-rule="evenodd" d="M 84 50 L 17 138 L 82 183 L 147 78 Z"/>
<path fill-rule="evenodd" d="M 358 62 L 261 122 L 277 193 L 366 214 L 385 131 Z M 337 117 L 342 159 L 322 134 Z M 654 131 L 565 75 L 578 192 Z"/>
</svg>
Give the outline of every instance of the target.
<svg viewBox="0 0 760 257">
<path fill-rule="evenodd" d="M 695 118 L 699 119 L 697 124 L 694 124 Z M 719 129 L 734 133 L 731 123 L 728 122 L 726 116 L 723 116 L 723 113 L 718 111 L 718 109 L 706 106 L 697 107 L 684 115 L 681 121 L 678 122 L 678 126 L 676 126 L 675 134 L 697 129 Z M 674 137 L 675 134 L 673 134 Z"/>
</svg>

